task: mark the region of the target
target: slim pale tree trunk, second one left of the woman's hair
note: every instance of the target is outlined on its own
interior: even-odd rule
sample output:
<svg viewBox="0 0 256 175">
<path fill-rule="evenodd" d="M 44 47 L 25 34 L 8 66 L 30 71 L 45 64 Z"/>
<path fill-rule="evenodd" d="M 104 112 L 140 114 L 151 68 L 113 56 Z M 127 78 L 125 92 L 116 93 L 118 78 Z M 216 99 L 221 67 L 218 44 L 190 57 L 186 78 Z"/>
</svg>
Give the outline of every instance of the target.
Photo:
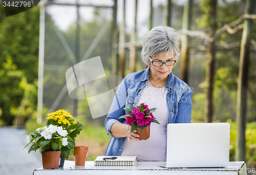
<svg viewBox="0 0 256 175">
<path fill-rule="evenodd" d="M 125 0 L 123 0 L 123 20 L 119 31 L 119 76 L 124 77 L 124 44 L 125 42 Z"/>
</svg>

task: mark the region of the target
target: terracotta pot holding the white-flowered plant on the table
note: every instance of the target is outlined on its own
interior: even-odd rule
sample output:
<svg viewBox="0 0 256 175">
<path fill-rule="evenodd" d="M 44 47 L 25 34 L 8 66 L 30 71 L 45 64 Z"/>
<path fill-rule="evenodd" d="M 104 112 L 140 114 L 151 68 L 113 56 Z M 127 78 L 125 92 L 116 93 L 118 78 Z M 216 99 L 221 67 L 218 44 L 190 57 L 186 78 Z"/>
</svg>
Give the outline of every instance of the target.
<svg viewBox="0 0 256 175">
<path fill-rule="evenodd" d="M 42 151 L 42 167 L 44 169 L 58 169 L 60 151 Z"/>
</svg>

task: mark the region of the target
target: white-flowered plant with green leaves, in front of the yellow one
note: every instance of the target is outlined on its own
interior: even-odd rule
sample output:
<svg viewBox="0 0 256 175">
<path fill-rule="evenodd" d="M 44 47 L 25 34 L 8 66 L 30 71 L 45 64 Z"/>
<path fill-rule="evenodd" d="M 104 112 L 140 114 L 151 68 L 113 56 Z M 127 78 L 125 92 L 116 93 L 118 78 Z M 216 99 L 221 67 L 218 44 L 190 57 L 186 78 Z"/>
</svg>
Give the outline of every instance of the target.
<svg viewBox="0 0 256 175">
<path fill-rule="evenodd" d="M 66 146 L 73 149 L 75 146 L 73 139 L 68 136 L 68 131 L 63 129 L 62 126 L 50 124 L 45 127 L 37 128 L 35 133 L 26 134 L 28 134 L 28 144 L 25 147 L 32 144 L 28 153 L 33 150 L 36 151 L 37 149 L 39 149 L 40 152 L 61 150 L 62 147 Z M 65 158 L 68 159 L 68 156 L 69 154 L 66 155 Z"/>
</svg>

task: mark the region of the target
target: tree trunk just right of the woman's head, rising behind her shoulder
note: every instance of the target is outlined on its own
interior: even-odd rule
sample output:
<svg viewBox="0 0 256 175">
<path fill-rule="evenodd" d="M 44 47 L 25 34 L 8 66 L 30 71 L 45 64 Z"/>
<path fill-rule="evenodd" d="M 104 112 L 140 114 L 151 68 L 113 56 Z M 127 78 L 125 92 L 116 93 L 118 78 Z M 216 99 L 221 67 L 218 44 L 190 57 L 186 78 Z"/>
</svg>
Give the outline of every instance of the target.
<svg viewBox="0 0 256 175">
<path fill-rule="evenodd" d="M 182 29 L 190 30 L 191 11 L 192 11 L 192 0 L 187 0 L 187 4 L 184 6 L 184 11 L 183 11 Z M 188 41 L 189 41 L 189 36 L 183 34 L 181 38 L 180 79 L 186 82 L 187 84 L 188 84 L 188 65 L 189 65 Z"/>
</svg>

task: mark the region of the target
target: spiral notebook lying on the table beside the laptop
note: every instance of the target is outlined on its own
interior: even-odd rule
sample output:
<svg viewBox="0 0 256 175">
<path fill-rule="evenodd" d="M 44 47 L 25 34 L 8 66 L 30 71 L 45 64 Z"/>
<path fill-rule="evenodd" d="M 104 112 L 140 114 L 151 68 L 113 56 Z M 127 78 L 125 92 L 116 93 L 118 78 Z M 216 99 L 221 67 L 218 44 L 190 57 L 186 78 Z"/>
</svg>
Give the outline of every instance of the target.
<svg viewBox="0 0 256 175">
<path fill-rule="evenodd" d="M 95 166 L 134 166 L 136 156 L 98 156 L 94 160 Z"/>
</svg>

